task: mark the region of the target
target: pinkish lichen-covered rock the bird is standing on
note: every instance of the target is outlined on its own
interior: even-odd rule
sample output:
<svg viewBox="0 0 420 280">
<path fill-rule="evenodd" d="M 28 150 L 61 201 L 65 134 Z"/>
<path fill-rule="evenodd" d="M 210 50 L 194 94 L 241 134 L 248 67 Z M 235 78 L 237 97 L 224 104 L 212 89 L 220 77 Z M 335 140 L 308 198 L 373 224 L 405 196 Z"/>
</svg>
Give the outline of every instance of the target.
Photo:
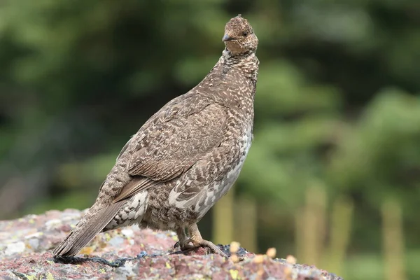
<svg viewBox="0 0 420 280">
<path fill-rule="evenodd" d="M 237 263 L 206 255 L 204 248 L 183 254 L 173 248 L 174 232 L 135 226 L 97 235 L 76 258 L 54 260 L 52 248 L 81 215 L 77 210 L 48 211 L 0 221 L 0 279 L 342 279 L 313 266 L 255 257 L 244 248 L 237 251 L 244 260 Z M 229 246 L 221 249 L 229 252 Z"/>
</svg>

